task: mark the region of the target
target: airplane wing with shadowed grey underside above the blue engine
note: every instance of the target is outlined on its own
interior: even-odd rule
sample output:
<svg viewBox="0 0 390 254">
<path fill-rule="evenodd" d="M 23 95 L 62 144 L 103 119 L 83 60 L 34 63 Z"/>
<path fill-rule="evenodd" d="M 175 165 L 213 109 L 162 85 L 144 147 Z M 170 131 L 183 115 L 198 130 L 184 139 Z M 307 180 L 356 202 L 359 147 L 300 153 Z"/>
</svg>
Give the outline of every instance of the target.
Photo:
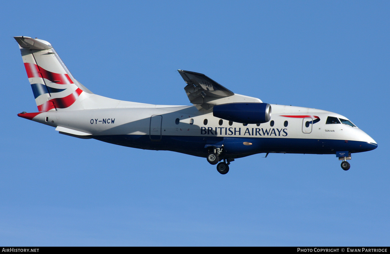
<svg viewBox="0 0 390 254">
<path fill-rule="evenodd" d="M 233 102 L 262 102 L 260 99 L 234 94 L 234 92 L 223 87 L 211 78 L 202 73 L 192 71 L 179 71 L 184 81 L 187 83 L 184 90 L 190 102 L 198 109 L 211 109 L 214 105 Z"/>
</svg>

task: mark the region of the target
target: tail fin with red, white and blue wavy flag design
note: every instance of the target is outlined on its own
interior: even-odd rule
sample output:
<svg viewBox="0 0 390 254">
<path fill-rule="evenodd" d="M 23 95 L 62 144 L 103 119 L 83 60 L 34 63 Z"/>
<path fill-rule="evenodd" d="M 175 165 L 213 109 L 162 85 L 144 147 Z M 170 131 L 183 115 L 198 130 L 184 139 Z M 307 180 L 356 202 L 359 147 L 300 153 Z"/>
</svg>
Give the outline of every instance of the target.
<svg viewBox="0 0 390 254">
<path fill-rule="evenodd" d="M 82 109 L 78 97 L 92 92 L 73 78 L 51 44 L 30 37 L 14 38 L 19 43 L 38 110 Z"/>
</svg>

